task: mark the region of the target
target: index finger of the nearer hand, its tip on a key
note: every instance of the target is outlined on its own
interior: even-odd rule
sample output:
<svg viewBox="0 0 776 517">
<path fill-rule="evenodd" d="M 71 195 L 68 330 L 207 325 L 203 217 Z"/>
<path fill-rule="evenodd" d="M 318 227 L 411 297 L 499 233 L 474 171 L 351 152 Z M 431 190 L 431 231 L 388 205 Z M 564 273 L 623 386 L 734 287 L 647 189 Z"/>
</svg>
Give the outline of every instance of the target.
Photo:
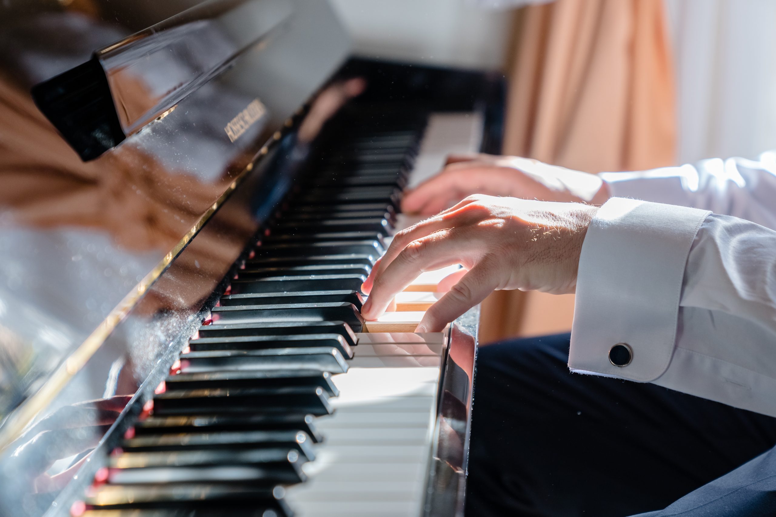
<svg viewBox="0 0 776 517">
<path fill-rule="evenodd" d="M 385 312 L 391 298 L 424 271 L 433 271 L 465 260 L 471 251 L 463 243 L 472 242 L 466 232 L 442 230 L 409 243 L 379 274 L 372 286 L 369 299 L 361 309 L 365 319 L 376 319 Z"/>
</svg>

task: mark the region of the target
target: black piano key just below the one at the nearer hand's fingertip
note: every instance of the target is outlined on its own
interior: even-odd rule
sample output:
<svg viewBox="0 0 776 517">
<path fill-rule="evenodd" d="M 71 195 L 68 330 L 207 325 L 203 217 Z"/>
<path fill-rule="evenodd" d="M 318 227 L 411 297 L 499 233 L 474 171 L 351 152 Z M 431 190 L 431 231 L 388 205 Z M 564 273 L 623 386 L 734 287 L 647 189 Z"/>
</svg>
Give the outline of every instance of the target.
<svg viewBox="0 0 776 517">
<path fill-rule="evenodd" d="M 199 327 L 199 337 L 289 336 L 294 334 L 339 334 L 350 346 L 355 346 L 358 343 L 353 329 L 347 323 L 340 321 L 213 323 Z"/>
</svg>

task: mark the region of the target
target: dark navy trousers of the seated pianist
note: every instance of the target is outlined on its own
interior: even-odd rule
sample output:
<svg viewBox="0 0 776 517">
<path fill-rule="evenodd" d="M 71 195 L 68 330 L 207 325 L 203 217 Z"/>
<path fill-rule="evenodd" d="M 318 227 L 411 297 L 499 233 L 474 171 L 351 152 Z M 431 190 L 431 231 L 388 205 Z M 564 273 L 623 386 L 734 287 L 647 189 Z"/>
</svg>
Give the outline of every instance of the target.
<svg viewBox="0 0 776 517">
<path fill-rule="evenodd" d="M 683 496 L 654 515 L 776 515 L 776 419 L 572 374 L 568 354 L 568 334 L 480 348 L 467 517 L 622 517 Z"/>
</svg>

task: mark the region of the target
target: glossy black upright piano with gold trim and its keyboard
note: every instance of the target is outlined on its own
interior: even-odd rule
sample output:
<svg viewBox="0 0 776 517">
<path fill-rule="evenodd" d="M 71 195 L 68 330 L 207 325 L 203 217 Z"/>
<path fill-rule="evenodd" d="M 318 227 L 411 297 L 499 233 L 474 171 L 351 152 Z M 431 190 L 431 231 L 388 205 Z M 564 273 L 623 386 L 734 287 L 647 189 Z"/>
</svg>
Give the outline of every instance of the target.
<svg viewBox="0 0 776 517">
<path fill-rule="evenodd" d="M 503 97 L 324 0 L 2 2 L 0 515 L 462 515 L 479 308 L 360 286 Z"/>
</svg>

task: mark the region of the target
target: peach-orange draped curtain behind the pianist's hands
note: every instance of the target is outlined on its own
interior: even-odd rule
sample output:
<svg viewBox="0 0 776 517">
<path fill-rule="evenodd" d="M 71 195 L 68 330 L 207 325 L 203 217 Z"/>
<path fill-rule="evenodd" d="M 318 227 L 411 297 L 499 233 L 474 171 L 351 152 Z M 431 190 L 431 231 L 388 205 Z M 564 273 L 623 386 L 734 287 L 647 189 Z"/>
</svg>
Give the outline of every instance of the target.
<svg viewBox="0 0 776 517">
<path fill-rule="evenodd" d="M 662 0 L 557 0 L 520 12 L 504 153 L 582 171 L 674 163 Z M 570 329 L 573 297 L 494 293 L 483 341 Z"/>
</svg>

